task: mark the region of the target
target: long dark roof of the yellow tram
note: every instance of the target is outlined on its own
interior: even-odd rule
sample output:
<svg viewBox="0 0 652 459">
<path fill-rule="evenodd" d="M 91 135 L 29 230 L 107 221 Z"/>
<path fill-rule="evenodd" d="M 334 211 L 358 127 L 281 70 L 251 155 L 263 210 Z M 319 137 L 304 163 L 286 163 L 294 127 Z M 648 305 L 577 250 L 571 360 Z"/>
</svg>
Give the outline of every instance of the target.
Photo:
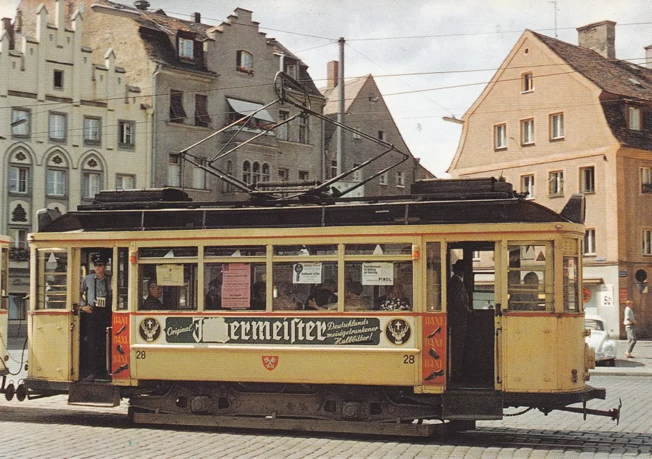
<svg viewBox="0 0 652 459">
<path fill-rule="evenodd" d="M 489 179 L 420 181 L 413 194 L 324 202 L 194 202 L 172 188 L 103 192 L 89 206 L 60 217 L 39 215 L 39 232 L 156 231 L 216 228 L 310 228 L 482 223 L 583 223 L 524 199 L 509 183 Z M 439 182 L 439 183 L 437 183 Z M 441 187 L 441 182 L 443 187 Z M 455 183 L 452 183 L 455 182 Z M 496 185 L 498 183 L 499 185 Z M 140 197 L 136 200 L 134 197 Z M 155 199 L 156 197 L 160 199 Z M 572 200 L 572 199 L 571 199 Z M 569 201 L 570 204 L 570 201 Z M 567 205 L 567 208 L 569 205 Z"/>
</svg>

